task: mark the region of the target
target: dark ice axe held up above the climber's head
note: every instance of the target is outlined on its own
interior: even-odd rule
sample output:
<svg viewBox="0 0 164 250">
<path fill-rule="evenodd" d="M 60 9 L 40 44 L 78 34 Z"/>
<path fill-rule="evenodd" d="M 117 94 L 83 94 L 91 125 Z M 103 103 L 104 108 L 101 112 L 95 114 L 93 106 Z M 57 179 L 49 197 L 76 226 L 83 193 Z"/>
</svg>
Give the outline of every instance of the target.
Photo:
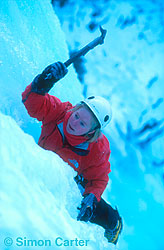
<svg viewBox="0 0 164 250">
<path fill-rule="evenodd" d="M 100 26 L 100 31 L 101 31 L 101 36 L 97 37 L 92 42 L 88 43 L 85 47 L 83 47 L 82 49 L 77 51 L 72 57 L 70 57 L 70 59 L 68 59 L 66 62 L 64 62 L 66 67 L 71 65 L 80 56 L 85 56 L 88 53 L 88 51 L 95 48 L 97 45 L 99 45 L 99 44 L 101 45 L 104 43 L 104 38 L 106 36 L 107 30 L 103 29 Z"/>
</svg>

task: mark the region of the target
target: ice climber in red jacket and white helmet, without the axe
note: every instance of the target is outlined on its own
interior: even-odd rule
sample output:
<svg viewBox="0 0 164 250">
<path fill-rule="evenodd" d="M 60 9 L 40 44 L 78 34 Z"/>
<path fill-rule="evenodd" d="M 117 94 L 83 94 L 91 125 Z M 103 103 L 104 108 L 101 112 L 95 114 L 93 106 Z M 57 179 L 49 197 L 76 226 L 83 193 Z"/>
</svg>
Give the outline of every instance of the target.
<svg viewBox="0 0 164 250">
<path fill-rule="evenodd" d="M 49 95 L 67 72 L 61 62 L 49 65 L 26 87 L 22 101 L 29 115 L 42 121 L 38 144 L 57 153 L 77 172 L 74 179 L 83 196 L 77 220 L 102 226 L 108 242 L 116 244 L 122 218 L 101 198 L 111 171 L 109 142 L 101 130 L 111 120 L 111 107 L 99 96 L 73 106 Z"/>
</svg>

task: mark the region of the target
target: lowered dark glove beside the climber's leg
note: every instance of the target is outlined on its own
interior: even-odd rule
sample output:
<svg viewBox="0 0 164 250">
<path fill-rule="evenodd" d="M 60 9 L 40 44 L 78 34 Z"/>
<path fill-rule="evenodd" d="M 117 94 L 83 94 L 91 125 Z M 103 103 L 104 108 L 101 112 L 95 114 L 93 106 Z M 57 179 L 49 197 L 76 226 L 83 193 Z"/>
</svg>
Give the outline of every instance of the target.
<svg viewBox="0 0 164 250">
<path fill-rule="evenodd" d="M 81 207 L 78 208 L 80 212 L 77 216 L 77 220 L 85 222 L 89 221 L 92 218 L 97 202 L 97 198 L 94 194 L 85 195 L 81 202 Z"/>
</svg>

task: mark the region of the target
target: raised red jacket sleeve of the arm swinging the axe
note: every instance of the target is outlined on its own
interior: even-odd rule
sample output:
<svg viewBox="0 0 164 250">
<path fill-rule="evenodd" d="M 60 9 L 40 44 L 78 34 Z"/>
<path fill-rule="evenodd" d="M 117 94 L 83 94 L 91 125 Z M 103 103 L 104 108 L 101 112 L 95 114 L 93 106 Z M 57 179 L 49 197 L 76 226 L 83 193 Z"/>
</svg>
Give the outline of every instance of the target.
<svg viewBox="0 0 164 250">
<path fill-rule="evenodd" d="M 22 102 L 28 114 L 43 123 L 57 120 L 61 113 L 72 107 L 69 102 L 62 103 L 57 97 L 49 94 L 40 95 L 31 91 L 31 84 L 22 93 Z"/>
</svg>

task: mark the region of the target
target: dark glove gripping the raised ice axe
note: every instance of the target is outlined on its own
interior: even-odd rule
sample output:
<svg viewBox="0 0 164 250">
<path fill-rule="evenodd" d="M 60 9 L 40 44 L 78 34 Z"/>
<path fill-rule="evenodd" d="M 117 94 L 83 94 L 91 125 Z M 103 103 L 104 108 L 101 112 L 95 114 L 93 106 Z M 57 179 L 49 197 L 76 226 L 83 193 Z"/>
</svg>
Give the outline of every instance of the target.
<svg viewBox="0 0 164 250">
<path fill-rule="evenodd" d="M 54 83 L 63 78 L 68 69 L 62 62 L 56 62 L 43 70 L 42 74 L 37 75 L 32 82 L 32 92 L 44 95 L 53 87 Z"/>
</svg>

